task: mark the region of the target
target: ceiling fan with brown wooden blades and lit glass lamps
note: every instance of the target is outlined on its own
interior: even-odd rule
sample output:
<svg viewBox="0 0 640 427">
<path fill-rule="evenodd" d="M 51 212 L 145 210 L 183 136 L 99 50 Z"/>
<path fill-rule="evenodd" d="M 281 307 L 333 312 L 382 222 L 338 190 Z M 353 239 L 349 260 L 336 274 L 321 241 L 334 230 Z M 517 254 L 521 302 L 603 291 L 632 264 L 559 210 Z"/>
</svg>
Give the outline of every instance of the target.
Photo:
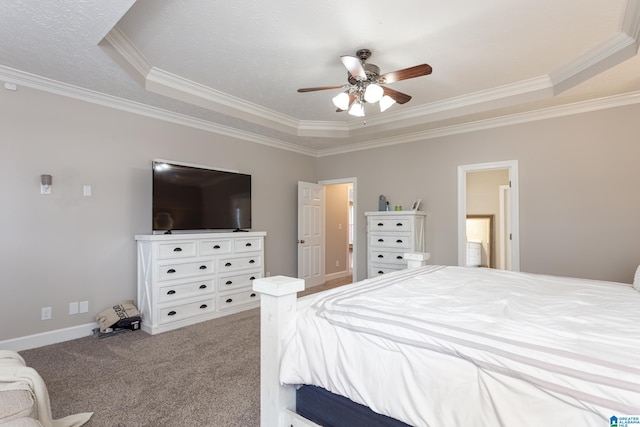
<svg viewBox="0 0 640 427">
<path fill-rule="evenodd" d="M 414 77 L 431 74 L 432 68 L 427 64 L 420 64 L 390 73 L 380 74 L 380 67 L 366 62 L 371 56 L 369 49 L 360 49 L 356 56 L 344 55 L 340 60 L 347 69 L 348 84 L 335 86 L 307 87 L 298 89 L 298 92 L 314 92 L 318 90 L 343 89 L 333 98 L 337 111 L 349 111 L 354 116 L 364 116 L 365 103 L 379 102 L 380 111 L 385 111 L 393 104 L 404 104 L 409 102 L 411 96 L 390 89 L 384 84 L 397 82 L 400 80 L 412 79 Z"/>
</svg>

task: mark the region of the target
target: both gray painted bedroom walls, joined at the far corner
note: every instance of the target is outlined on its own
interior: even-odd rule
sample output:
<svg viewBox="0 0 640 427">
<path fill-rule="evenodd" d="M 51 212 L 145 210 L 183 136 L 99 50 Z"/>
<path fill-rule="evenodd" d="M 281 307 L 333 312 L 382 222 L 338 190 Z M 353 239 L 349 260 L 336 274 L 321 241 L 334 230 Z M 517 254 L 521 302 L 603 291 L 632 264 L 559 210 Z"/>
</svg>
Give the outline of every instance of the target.
<svg viewBox="0 0 640 427">
<path fill-rule="evenodd" d="M 518 160 L 523 271 L 630 282 L 640 263 L 640 106 L 312 158 L 20 88 L 0 93 L 0 341 L 93 321 L 135 298 L 133 236 L 151 231 L 154 158 L 253 175 L 266 271 L 296 275 L 297 181 L 356 177 L 364 212 L 422 198 L 434 264 L 457 263 L 457 167 Z M 53 194 L 39 176 L 53 175 Z M 91 185 L 93 196 L 82 196 Z M 68 304 L 89 301 L 70 316 Z M 40 320 L 40 308 L 53 319 Z"/>
</svg>

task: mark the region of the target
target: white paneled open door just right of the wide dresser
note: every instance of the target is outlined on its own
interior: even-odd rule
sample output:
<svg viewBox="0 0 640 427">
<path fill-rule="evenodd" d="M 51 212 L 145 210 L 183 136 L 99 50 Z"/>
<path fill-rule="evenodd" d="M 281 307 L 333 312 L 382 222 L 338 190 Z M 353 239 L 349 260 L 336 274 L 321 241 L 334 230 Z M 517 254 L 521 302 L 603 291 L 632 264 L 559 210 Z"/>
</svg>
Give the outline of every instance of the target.
<svg viewBox="0 0 640 427">
<path fill-rule="evenodd" d="M 324 283 L 324 186 L 298 182 L 298 278 Z"/>
</svg>

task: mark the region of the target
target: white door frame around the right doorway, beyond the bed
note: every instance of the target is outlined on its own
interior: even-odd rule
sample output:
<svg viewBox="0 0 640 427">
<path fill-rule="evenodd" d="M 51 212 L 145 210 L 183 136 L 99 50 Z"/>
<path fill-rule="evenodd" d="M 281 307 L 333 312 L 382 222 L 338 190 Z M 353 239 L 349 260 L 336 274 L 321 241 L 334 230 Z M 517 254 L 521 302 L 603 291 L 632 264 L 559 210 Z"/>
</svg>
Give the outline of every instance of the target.
<svg viewBox="0 0 640 427">
<path fill-rule="evenodd" d="M 467 224 L 467 172 L 508 169 L 511 182 L 511 271 L 520 271 L 520 213 L 518 210 L 518 161 L 478 163 L 458 166 L 458 265 L 464 266 L 466 259 Z"/>
</svg>

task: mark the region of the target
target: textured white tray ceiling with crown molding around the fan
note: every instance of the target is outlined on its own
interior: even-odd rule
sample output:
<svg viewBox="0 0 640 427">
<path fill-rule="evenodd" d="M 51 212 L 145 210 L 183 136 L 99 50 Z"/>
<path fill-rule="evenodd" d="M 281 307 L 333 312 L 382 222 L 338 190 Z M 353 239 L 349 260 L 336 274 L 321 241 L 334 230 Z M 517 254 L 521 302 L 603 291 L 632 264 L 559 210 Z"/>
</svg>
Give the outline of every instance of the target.
<svg viewBox="0 0 640 427">
<path fill-rule="evenodd" d="M 634 94 L 639 3 L 1 2 L 0 79 L 330 152 Z M 360 48 L 383 73 L 428 63 L 433 74 L 390 84 L 411 101 L 365 119 L 335 111 L 338 90 L 296 92 L 346 83 L 339 57 Z"/>
</svg>

